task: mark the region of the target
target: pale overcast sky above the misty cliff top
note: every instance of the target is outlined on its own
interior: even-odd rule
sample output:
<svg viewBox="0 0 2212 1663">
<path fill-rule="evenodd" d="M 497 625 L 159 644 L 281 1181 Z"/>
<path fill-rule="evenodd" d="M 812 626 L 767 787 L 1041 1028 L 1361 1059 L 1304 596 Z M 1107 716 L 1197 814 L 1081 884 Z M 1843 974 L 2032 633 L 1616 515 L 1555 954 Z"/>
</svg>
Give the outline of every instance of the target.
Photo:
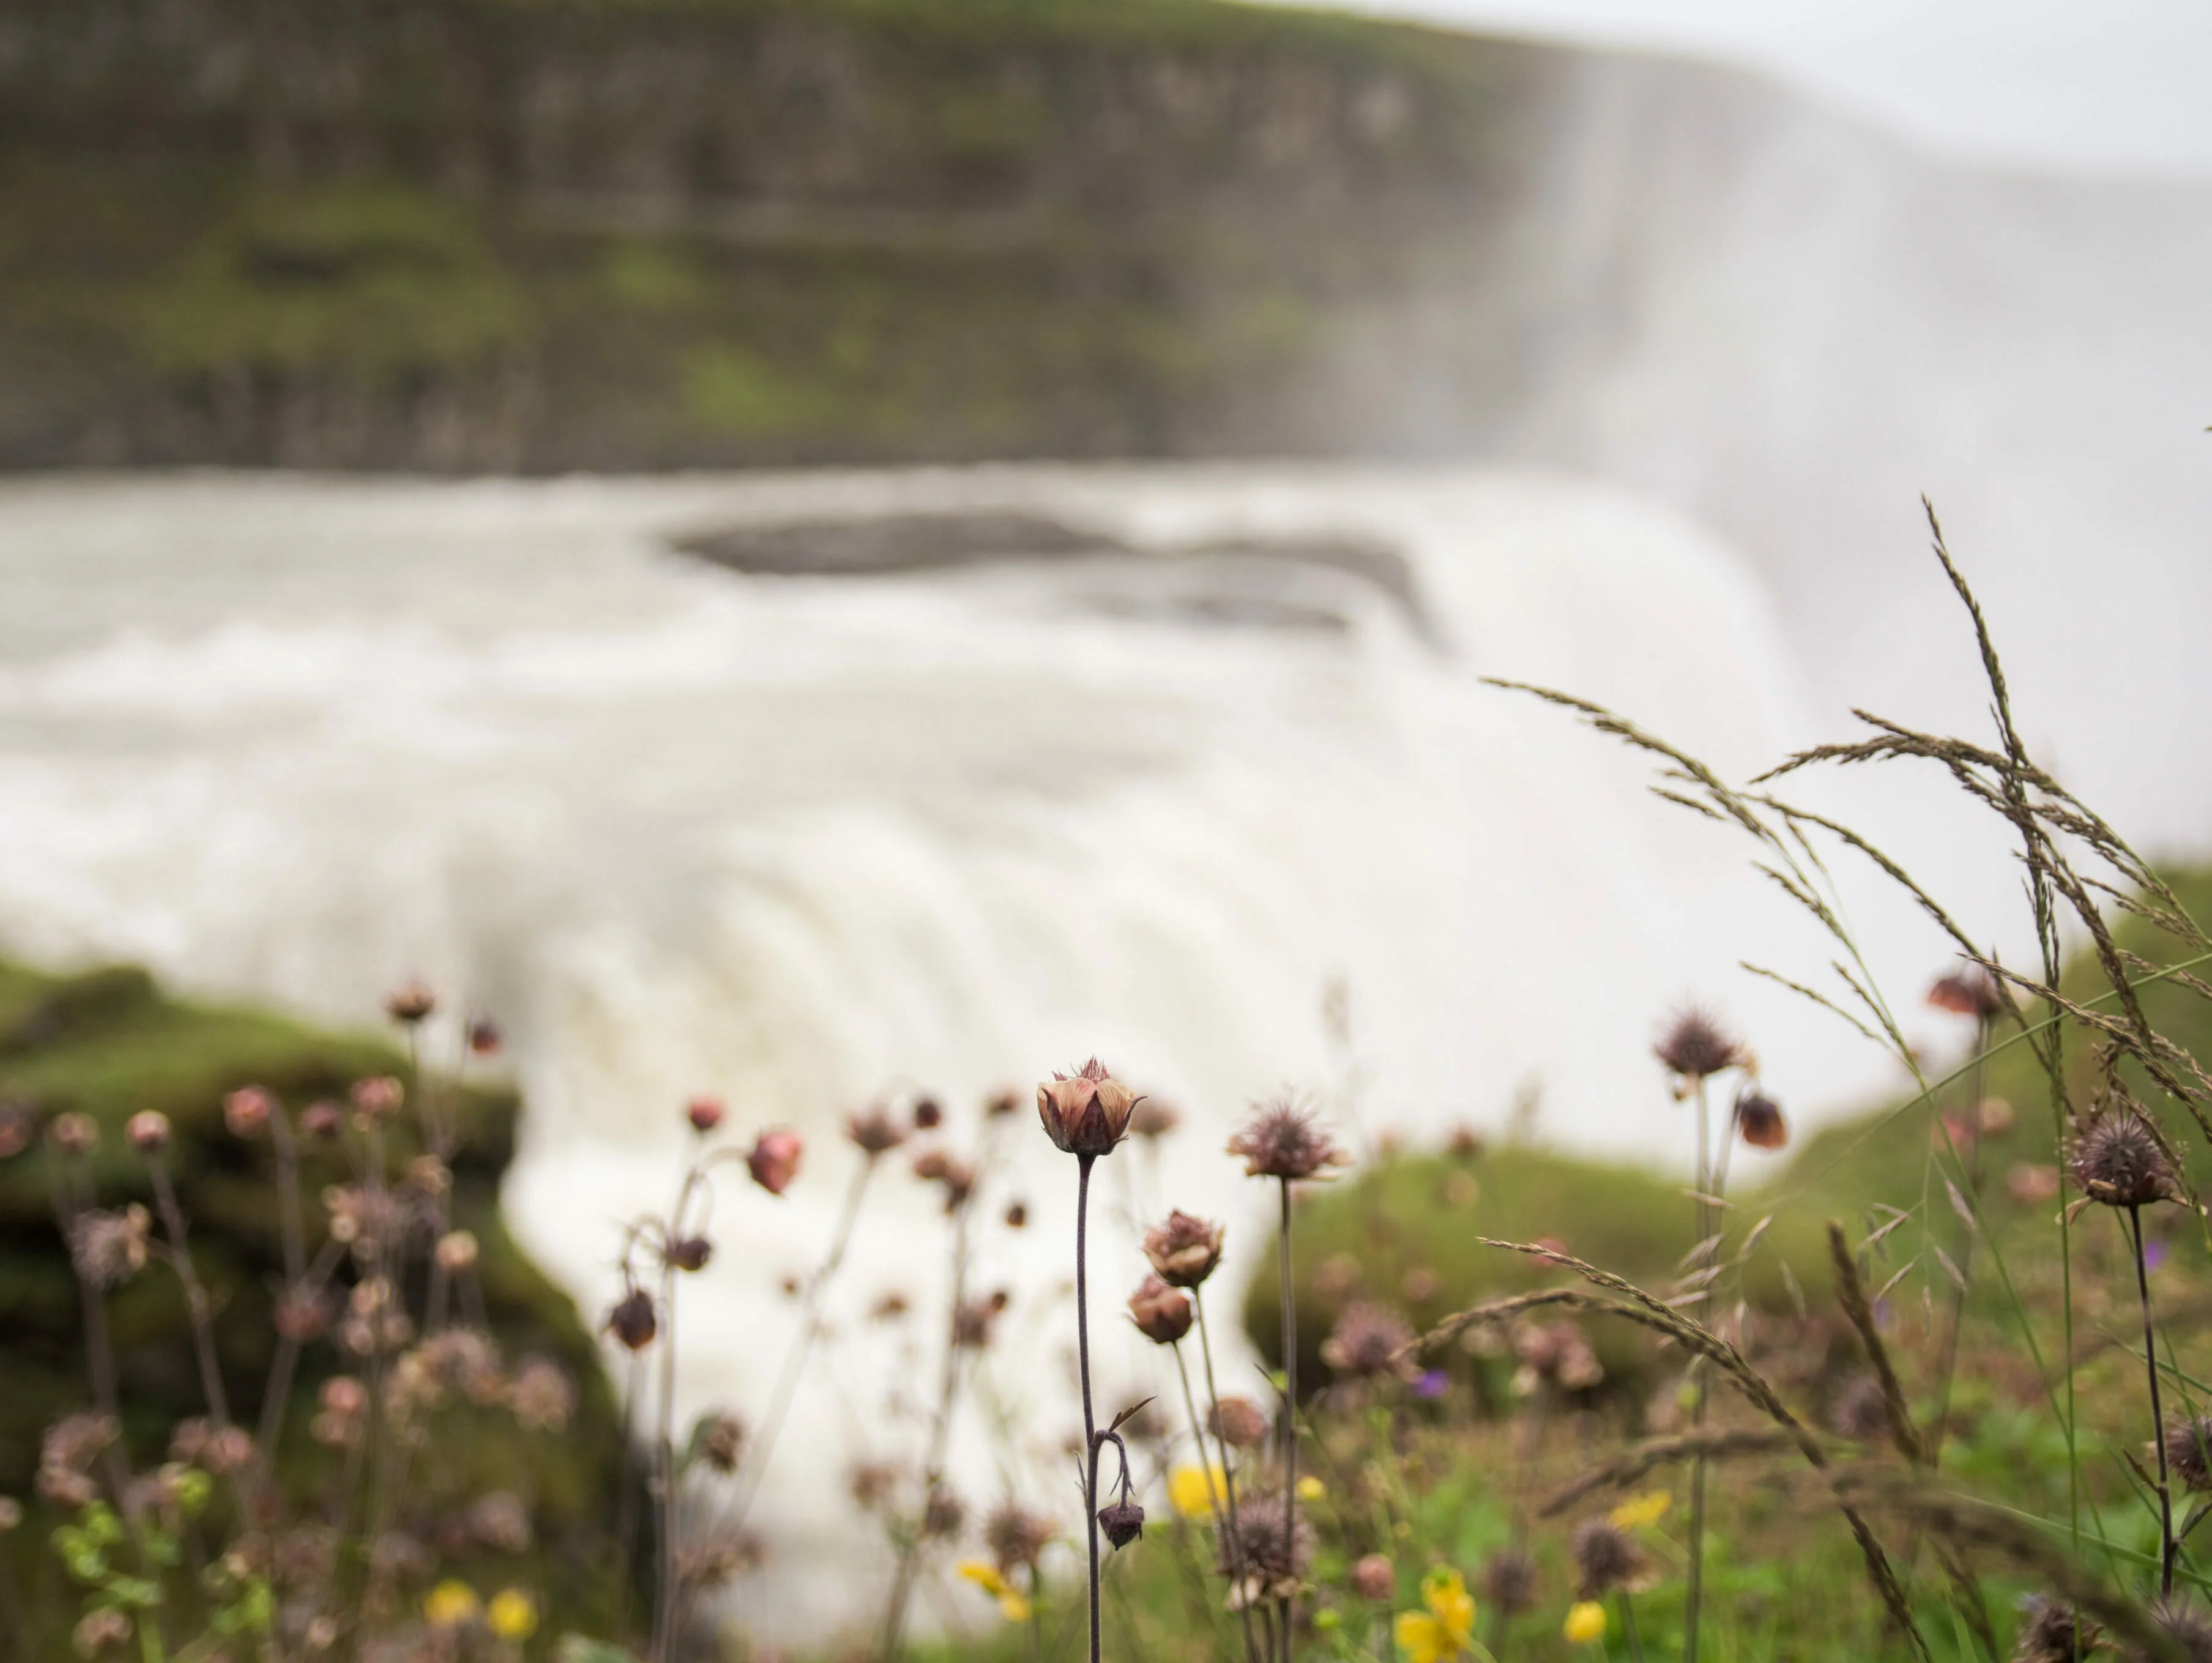
<svg viewBox="0 0 2212 1663">
<path fill-rule="evenodd" d="M 2212 177 L 2212 0 L 1334 0 L 1765 69 L 1924 146 Z"/>
</svg>

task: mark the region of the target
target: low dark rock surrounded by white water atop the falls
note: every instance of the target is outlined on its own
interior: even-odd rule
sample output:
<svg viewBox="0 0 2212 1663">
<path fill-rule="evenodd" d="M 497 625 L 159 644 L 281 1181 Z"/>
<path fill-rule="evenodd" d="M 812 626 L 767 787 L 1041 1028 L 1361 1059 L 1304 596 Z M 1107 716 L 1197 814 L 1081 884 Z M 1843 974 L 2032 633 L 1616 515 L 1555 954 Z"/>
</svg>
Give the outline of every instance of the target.
<svg viewBox="0 0 2212 1663">
<path fill-rule="evenodd" d="M 686 555 L 772 577 L 889 577 L 980 566 L 1048 566 L 1095 613 L 1128 619 L 1343 632 L 1345 579 L 1380 590 L 1440 646 L 1402 553 L 1360 537 L 1223 537 L 1137 546 L 1042 513 L 887 513 L 721 526 L 675 540 Z"/>
</svg>

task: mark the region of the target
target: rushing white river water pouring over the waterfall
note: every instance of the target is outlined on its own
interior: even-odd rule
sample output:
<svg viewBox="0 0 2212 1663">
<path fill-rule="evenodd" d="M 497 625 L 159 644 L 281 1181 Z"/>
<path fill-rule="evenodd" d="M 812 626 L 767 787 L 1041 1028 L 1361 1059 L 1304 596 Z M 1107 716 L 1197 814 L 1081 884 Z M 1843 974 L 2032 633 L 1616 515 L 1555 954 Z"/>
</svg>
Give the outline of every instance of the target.
<svg viewBox="0 0 2212 1663">
<path fill-rule="evenodd" d="M 1352 579 L 1316 590 L 1349 628 L 1316 632 L 1148 615 L 1133 586 L 1168 579 L 1141 564 L 1102 606 L 1084 566 L 790 579 L 666 551 L 734 520 L 949 506 L 1139 544 L 1383 537 L 1442 639 Z M 1263 1196 L 1219 1146 L 1250 1099 L 1340 1079 L 1336 980 L 1354 1137 L 1495 1126 L 1537 1081 L 1546 1137 L 1674 1159 L 1648 1042 L 1690 995 L 1747 1026 L 1801 1115 L 1885 1081 L 1840 1024 L 1736 969 L 1820 955 L 1725 832 L 1478 681 L 1584 692 L 1732 772 L 1812 732 L 1761 582 L 1586 480 L 18 482 L 0 582 L 7 951 L 144 960 L 352 1024 L 422 973 L 498 1013 L 529 1101 L 509 1205 L 586 1307 L 615 1287 L 617 1221 L 666 1203 L 688 1095 L 810 1134 L 783 1201 L 723 1185 L 717 1261 L 684 1289 L 688 1406 L 759 1406 L 790 1325 L 772 1285 L 821 1254 L 852 1170 L 838 1119 L 887 1090 L 942 1092 L 967 1143 L 989 1088 L 1099 1050 L 1190 1117 L 1141 1205 L 1228 1216 L 1250 1247 Z M 1940 962 L 1905 913 L 1869 940 L 1905 993 Z M 1015 1289 L 993 1367 L 1064 1406 L 1073 1163 L 1026 1115 L 1011 1148 L 993 1210 L 1020 1194 L 1035 1223 L 982 1245 L 978 1285 Z M 1113 1316 L 1141 1269 L 1119 1188 L 1139 1165 L 1108 1163 L 1095 1254 L 1108 1402 L 1144 1364 Z M 940 1241 L 929 1196 L 887 1176 L 838 1309 L 940 1289 Z M 896 1360 L 852 1325 L 841 1345 L 757 1515 L 772 1628 L 852 1614 L 872 1572 L 823 1475 L 918 1431 L 929 1347 Z M 1062 1418 L 1033 1420 L 1057 1440 Z M 1064 1499 L 1051 1442 L 1026 1457 L 1029 1499 Z M 995 1486 L 978 1424 L 958 1464 Z"/>
</svg>

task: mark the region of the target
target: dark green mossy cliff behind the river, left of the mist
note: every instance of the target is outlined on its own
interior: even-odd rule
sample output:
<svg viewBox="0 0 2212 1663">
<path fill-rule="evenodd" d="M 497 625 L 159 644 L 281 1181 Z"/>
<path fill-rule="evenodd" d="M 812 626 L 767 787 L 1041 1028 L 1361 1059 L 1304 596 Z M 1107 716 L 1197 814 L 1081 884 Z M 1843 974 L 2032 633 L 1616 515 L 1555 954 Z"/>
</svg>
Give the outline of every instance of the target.
<svg viewBox="0 0 2212 1663">
<path fill-rule="evenodd" d="M 1219 0 L 22 0 L 0 464 L 1329 449 L 1559 73 Z"/>
</svg>

